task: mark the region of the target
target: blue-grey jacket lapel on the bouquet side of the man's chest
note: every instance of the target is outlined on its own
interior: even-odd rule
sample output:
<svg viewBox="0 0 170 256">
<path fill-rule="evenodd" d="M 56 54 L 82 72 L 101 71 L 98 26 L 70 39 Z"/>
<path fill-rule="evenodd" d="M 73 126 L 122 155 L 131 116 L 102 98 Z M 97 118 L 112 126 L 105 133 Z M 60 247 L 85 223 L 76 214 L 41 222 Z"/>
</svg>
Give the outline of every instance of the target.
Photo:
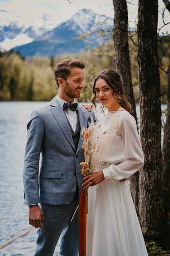
<svg viewBox="0 0 170 256">
<path fill-rule="evenodd" d="M 82 140 L 83 139 L 82 128 L 84 127 L 85 130 L 86 130 L 87 124 L 88 124 L 88 116 L 87 116 L 86 111 L 84 110 L 84 108 L 82 108 L 82 105 L 80 105 L 80 104 L 78 104 L 78 106 L 77 106 L 77 112 L 78 112 L 78 115 L 79 115 L 79 122 L 80 122 L 80 128 L 81 128 L 79 144 L 78 144 L 78 147 L 77 147 L 77 152 L 78 152 L 79 148 L 81 147 L 82 142 L 83 142 L 83 140 Z"/>
</svg>

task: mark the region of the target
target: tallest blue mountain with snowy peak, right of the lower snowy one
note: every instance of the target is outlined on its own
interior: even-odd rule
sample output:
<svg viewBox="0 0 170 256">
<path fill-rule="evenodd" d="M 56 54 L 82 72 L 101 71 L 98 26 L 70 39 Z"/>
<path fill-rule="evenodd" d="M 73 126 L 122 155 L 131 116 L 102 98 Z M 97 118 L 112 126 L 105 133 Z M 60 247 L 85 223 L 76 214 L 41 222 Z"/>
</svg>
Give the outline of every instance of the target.
<svg viewBox="0 0 170 256">
<path fill-rule="evenodd" d="M 39 28 L 38 32 L 36 32 L 32 27 L 27 29 L 19 28 L 16 23 L 12 24 L 12 26 L 16 31 L 20 29 L 19 33 L 23 29 L 23 35 L 28 36 L 28 38 L 25 37 L 25 41 L 28 39 L 28 43 L 14 47 L 14 52 L 19 50 L 24 57 L 32 57 L 34 55 L 52 57 L 55 54 L 70 54 L 83 51 L 86 45 L 89 47 L 99 46 L 103 43 L 103 38 L 93 32 L 99 31 L 99 29 L 110 30 L 113 26 L 113 19 L 105 15 L 96 14 L 90 9 L 82 9 L 74 14 L 70 20 L 60 23 L 50 31 L 43 31 L 43 28 Z M 42 29 L 42 33 L 40 33 L 40 29 Z M 11 30 L 9 29 L 8 33 L 10 34 L 10 32 Z M 91 34 L 86 41 L 72 39 L 80 37 L 83 32 Z M 29 35 L 32 36 L 32 40 Z M 17 40 L 19 36 L 22 35 L 17 34 L 14 39 Z"/>
</svg>

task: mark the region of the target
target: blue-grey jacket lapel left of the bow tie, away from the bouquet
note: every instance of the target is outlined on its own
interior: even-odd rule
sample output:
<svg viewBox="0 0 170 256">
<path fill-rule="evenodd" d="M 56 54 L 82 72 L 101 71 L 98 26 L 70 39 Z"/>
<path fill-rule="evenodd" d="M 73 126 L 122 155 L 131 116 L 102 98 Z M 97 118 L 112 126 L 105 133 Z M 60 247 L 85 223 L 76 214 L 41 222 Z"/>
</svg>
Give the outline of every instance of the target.
<svg viewBox="0 0 170 256">
<path fill-rule="evenodd" d="M 70 128 L 68 125 L 68 121 L 65 117 L 65 113 L 62 110 L 62 107 L 59 104 L 59 102 L 57 101 L 56 97 L 54 97 L 54 99 L 51 100 L 50 105 L 51 105 L 51 107 L 53 107 L 50 109 L 50 111 L 52 112 L 55 119 L 57 120 L 60 128 L 62 129 L 63 133 L 65 134 L 65 137 L 67 138 L 69 143 L 72 145 L 72 147 L 76 150 L 76 148 L 74 146 L 73 138 L 71 136 L 71 131 L 70 131 Z"/>
</svg>

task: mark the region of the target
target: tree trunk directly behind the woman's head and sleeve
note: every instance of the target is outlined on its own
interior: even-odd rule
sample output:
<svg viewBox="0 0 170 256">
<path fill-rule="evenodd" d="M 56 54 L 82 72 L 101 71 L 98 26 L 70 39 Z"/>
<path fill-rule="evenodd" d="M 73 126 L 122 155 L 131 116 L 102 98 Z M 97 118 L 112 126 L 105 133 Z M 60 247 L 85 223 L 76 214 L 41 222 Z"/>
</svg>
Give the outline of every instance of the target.
<svg viewBox="0 0 170 256">
<path fill-rule="evenodd" d="M 127 34 L 127 3 L 126 0 L 113 0 L 114 5 L 114 56 L 116 70 L 118 70 L 124 80 L 125 95 L 131 104 L 131 114 L 136 119 L 136 106 L 133 97 L 133 87 L 130 71 L 129 45 Z M 130 177 L 131 193 L 135 204 L 136 212 L 138 213 L 139 204 L 139 172 L 136 172 Z"/>
</svg>

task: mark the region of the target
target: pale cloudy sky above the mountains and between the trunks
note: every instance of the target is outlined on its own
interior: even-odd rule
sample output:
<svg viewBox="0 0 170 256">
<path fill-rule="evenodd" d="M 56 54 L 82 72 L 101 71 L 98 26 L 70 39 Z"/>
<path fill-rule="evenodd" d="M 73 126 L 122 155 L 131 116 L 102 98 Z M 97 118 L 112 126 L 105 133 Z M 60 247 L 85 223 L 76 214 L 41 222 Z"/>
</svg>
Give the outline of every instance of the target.
<svg viewBox="0 0 170 256">
<path fill-rule="evenodd" d="M 71 3 L 69 3 L 71 2 Z M 30 24 L 34 19 L 40 17 L 42 13 L 47 13 L 54 17 L 56 24 L 70 19 L 80 9 L 92 9 L 96 13 L 113 17 L 113 0 L 0 0 L 0 10 L 15 14 L 20 22 L 25 25 Z M 137 19 L 138 0 L 129 0 L 133 4 L 128 5 L 129 20 L 135 22 Z M 164 6 L 163 1 L 159 0 L 159 27 L 161 23 L 161 8 Z M 14 16 L 14 15 L 13 15 Z M 169 18 L 169 12 L 165 12 L 166 19 Z M 167 17 L 169 16 L 169 17 Z M 137 21 L 137 20 L 136 20 Z M 2 24 L 2 23 L 1 23 Z M 130 23 L 132 27 L 133 24 Z M 170 27 L 169 27 L 170 28 Z"/>
</svg>

